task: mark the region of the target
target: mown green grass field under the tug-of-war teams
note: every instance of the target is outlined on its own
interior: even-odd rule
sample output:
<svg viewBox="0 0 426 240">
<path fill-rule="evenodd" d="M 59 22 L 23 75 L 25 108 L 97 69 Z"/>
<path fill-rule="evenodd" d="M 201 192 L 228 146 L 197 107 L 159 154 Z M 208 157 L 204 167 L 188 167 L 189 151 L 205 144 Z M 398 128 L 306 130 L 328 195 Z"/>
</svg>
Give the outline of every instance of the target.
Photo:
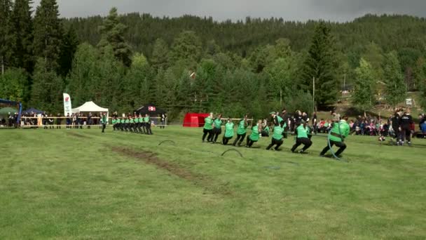
<svg viewBox="0 0 426 240">
<path fill-rule="evenodd" d="M 0 131 L 0 239 L 426 238 L 426 140 L 351 136 L 345 163 L 320 136 L 241 158 L 199 128 L 153 131 Z"/>
</svg>

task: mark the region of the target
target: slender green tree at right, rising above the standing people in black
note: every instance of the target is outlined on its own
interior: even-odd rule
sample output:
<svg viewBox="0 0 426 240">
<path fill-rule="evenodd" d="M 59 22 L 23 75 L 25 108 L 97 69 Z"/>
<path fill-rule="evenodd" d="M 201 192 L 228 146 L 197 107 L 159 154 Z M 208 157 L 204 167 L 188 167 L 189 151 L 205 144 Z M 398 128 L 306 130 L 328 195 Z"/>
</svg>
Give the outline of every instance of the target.
<svg viewBox="0 0 426 240">
<path fill-rule="evenodd" d="M 385 55 L 383 64 L 385 77 L 386 101 L 392 107 L 396 107 L 405 100 L 407 86 L 404 82 L 404 76 L 401 73 L 401 65 L 396 52 L 390 52 Z"/>
</svg>

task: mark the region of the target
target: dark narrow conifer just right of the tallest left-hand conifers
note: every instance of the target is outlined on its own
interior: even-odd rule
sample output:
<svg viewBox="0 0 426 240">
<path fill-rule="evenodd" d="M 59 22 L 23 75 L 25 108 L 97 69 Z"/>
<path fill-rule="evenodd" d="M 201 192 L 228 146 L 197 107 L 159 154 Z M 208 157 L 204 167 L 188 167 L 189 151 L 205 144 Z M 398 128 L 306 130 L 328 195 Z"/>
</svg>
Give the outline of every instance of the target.
<svg viewBox="0 0 426 240">
<path fill-rule="evenodd" d="M 60 48 L 60 69 L 59 74 L 62 77 L 67 76 L 72 67 L 72 60 L 74 59 L 74 54 L 77 51 L 78 47 L 78 38 L 74 27 L 69 27 L 67 34 L 64 35 L 62 39 L 62 44 Z"/>
</svg>

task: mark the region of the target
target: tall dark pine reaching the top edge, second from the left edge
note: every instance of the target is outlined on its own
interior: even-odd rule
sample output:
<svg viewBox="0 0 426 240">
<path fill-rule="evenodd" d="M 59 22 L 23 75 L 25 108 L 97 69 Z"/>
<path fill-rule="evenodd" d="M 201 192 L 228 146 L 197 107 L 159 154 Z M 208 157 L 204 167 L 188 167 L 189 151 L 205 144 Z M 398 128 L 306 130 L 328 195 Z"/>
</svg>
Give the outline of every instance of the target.
<svg viewBox="0 0 426 240">
<path fill-rule="evenodd" d="M 15 0 L 13 7 L 13 27 L 16 32 L 15 67 L 22 67 L 30 74 L 34 70 L 32 55 L 32 9 L 31 0 Z"/>
</svg>

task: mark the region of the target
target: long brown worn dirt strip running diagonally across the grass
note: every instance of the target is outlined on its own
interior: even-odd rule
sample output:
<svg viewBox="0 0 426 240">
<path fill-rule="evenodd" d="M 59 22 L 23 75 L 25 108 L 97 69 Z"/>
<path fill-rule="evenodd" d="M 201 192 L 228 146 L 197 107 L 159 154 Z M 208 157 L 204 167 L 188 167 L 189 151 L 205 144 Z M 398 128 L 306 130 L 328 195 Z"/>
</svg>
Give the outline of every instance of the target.
<svg viewBox="0 0 426 240">
<path fill-rule="evenodd" d="M 215 194 L 233 195 L 233 192 L 227 186 L 229 182 L 223 184 L 217 180 L 210 179 L 205 175 L 193 173 L 187 170 L 186 168 L 182 168 L 178 164 L 170 163 L 168 161 L 158 158 L 156 153 L 136 151 L 134 149 L 129 149 L 125 147 L 111 147 L 111 149 L 113 152 L 116 152 L 118 154 L 130 156 L 132 158 L 138 159 L 139 161 L 144 161 L 146 164 L 152 164 L 157 168 L 168 171 L 173 175 L 177 175 L 179 178 L 188 180 L 194 185 L 203 187 Z"/>
</svg>

